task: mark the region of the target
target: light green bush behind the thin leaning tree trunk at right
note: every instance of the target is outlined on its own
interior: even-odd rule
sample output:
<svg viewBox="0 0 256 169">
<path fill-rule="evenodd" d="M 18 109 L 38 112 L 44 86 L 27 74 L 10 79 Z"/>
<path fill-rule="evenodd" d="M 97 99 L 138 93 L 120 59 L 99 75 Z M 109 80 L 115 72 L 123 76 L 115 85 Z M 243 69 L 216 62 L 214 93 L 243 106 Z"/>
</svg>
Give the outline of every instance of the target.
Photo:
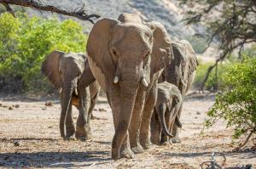
<svg viewBox="0 0 256 169">
<path fill-rule="evenodd" d="M 193 82 L 194 88 L 200 88 L 201 84 L 207 74 L 208 68 L 214 65 L 214 63 L 205 63 L 200 64 L 196 69 L 195 80 Z M 225 63 L 219 63 L 217 67 L 217 79 L 216 79 L 216 68 L 213 68 L 210 73 L 208 80 L 205 85 L 205 89 L 207 90 L 217 90 L 222 89 L 224 84 L 224 74 L 229 69 L 230 65 L 232 65 L 229 61 Z"/>
</svg>

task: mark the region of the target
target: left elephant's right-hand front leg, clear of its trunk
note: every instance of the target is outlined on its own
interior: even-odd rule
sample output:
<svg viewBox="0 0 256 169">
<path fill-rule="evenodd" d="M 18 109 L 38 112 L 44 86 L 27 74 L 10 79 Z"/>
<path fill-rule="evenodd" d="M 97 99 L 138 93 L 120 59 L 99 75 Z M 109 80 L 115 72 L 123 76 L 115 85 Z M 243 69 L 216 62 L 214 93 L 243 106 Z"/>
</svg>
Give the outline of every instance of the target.
<svg viewBox="0 0 256 169">
<path fill-rule="evenodd" d="M 90 89 L 89 87 L 79 87 L 79 117 L 75 137 L 81 140 L 90 138 L 90 126 L 88 124 L 88 111 L 90 108 Z"/>
</svg>

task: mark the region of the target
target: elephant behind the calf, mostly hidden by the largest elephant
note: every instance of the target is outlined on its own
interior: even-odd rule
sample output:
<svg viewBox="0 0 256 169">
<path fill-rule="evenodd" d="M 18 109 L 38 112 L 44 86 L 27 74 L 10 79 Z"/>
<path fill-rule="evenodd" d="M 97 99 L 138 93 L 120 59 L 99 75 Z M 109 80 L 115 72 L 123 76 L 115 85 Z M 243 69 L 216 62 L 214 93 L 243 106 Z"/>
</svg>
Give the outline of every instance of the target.
<svg viewBox="0 0 256 169">
<path fill-rule="evenodd" d="M 189 91 L 189 88 L 195 79 L 198 61 L 194 49 L 186 40 L 172 42 L 172 51 L 174 59 L 166 65 L 162 76 L 160 76 L 159 82 L 166 81 L 177 86 L 184 99 L 185 94 Z M 183 100 L 177 112 L 178 118 L 180 118 L 182 107 Z M 172 143 L 181 142 L 180 138 L 178 138 L 176 124 L 172 127 L 172 135 L 174 136 L 174 138 L 172 138 Z M 164 134 L 162 137 L 162 139 L 165 139 Z"/>
</svg>

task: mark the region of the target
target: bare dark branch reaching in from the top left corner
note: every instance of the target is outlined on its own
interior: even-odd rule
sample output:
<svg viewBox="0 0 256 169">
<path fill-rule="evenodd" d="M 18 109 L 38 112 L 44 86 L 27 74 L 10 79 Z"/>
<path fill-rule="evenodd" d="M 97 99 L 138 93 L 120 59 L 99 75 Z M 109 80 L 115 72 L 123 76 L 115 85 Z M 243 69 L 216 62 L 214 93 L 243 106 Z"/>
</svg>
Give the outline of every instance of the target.
<svg viewBox="0 0 256 169">
<path fill-rule="evenodd" d="M 97 14 L 85 14 L 84 7 L 80 8 L 78 11 L 76 11 L 76 10 L 66 11 L 61 8 L 56 8 L 55 6 L 43 5 L 42 3 L 35 2 L 33 0 L 0 0 L 0 3 L 3 3 L 5 8 L 7 8 L 7 10 L 9 12 L 12 11 L 12 9 L 9 8 L 9 4 L 13 4 L 13 5 L 19 5 L 22 7 L 30 7 L 30 8 L 36 8 L 38 10 L 54 12 L 57 14 L 64 14 L 67 16 L 72 16 L 72 17 L 78 18 L 79 20 L 88 20 L 92 24 L 94 24 L 94 21 L 92 20 L 92 18 L 97 19 L 100 17 Z"/>
</svg>

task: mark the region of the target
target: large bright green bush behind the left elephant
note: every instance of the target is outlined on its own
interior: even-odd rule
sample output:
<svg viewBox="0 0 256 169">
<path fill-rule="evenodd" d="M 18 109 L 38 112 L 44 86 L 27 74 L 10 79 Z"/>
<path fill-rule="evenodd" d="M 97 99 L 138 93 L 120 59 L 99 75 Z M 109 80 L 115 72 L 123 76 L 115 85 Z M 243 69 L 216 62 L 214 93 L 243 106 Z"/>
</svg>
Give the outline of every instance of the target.
<svg viewBox="0 0 256 169">
<path fill-rule="evenodd" d="M 86 35 L 73 20 L 0 15 L 0 89 L 41 91 L 49 83 L 41 74 L 44 57 L 53 50 L 85 52 Z M 10 83 L 10 84 L 9 84 Z"/>
</svg>

